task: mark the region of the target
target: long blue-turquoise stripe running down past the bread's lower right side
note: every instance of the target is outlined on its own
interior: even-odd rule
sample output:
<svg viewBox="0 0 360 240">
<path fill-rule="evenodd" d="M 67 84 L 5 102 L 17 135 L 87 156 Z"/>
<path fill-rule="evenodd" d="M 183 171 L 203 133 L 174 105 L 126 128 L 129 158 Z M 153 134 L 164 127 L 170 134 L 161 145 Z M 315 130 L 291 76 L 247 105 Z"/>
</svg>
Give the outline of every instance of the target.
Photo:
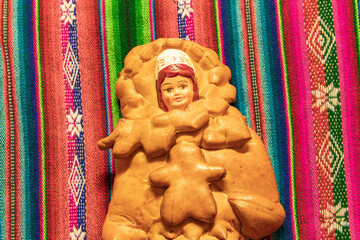
<svg viewBox="0 0 360 240">
<path fill-rule="evenodd" d="M 292 236 L 285 96 L 282 83 L 275 2 L 255 0 L 256 26 L 267 135 L 267 149 L 275 171 L 281 204 L 287 218 L 273 239 Z"/>
</svg>

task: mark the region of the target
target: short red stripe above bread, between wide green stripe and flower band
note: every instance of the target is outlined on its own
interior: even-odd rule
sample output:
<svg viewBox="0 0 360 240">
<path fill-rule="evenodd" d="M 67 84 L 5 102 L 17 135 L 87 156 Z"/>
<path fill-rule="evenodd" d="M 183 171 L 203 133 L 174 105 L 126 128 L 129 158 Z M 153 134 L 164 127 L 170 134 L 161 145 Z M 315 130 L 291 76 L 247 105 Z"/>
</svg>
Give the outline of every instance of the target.
<svg viewBox="0 0 360 240">
<path fill-rule="evenodd" d="M 179 37 L 176 1 L 155 0 L 157 38 Z"/>
</svg>

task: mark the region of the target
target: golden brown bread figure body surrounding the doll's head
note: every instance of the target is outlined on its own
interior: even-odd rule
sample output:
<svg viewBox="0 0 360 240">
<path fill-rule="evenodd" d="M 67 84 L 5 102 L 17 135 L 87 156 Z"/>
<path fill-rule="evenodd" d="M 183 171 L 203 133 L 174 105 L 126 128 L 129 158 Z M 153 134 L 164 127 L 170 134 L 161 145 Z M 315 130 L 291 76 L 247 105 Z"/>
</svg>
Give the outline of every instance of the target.
<svg viewBox="0 0 360 240">
<path fill-rule="evenodd" d="M 185 111 L 158 107 L 154 69 L 167 48 L 194 64 L 200 99 Z M 214 51 L 191 41 L 158 39 L 131 50 L 116 84 L 124 118 L 98 142 L 117 159 L 105 240 L 257 239 L 281 226 L 270 159 L 229 105 L 230 78 Z"/>
</svg>

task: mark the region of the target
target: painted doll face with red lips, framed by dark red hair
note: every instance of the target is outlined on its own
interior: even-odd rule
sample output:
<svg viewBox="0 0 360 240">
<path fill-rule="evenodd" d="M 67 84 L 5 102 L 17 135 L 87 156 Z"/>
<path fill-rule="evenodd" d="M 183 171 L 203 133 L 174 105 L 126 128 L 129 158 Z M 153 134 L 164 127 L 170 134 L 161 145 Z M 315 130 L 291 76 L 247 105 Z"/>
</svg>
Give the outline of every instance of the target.
<svg viewBox="0 0 360 240">
<path fill-rule="evenodd" d="M 193 102 L 194 90 L 191 79 L 183 76 L 166 77 L 161 84 L 162 100 L 168 110 L 185 110 Z"/>
</svg>

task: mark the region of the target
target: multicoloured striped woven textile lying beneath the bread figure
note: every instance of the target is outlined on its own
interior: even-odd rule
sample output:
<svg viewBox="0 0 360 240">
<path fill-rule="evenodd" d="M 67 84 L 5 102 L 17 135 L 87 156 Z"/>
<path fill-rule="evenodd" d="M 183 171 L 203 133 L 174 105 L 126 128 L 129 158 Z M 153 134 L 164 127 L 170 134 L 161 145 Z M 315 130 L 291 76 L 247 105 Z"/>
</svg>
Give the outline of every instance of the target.
<svg viewBox="0 0 360 240">
<path fill-rule="evenodd" d="M 100 239 L 126 54 L 219 54 L 286 211 L 272 239 L 360 239 L 360 2 L 0 1 L 0 239 Z"/>
</svg>

